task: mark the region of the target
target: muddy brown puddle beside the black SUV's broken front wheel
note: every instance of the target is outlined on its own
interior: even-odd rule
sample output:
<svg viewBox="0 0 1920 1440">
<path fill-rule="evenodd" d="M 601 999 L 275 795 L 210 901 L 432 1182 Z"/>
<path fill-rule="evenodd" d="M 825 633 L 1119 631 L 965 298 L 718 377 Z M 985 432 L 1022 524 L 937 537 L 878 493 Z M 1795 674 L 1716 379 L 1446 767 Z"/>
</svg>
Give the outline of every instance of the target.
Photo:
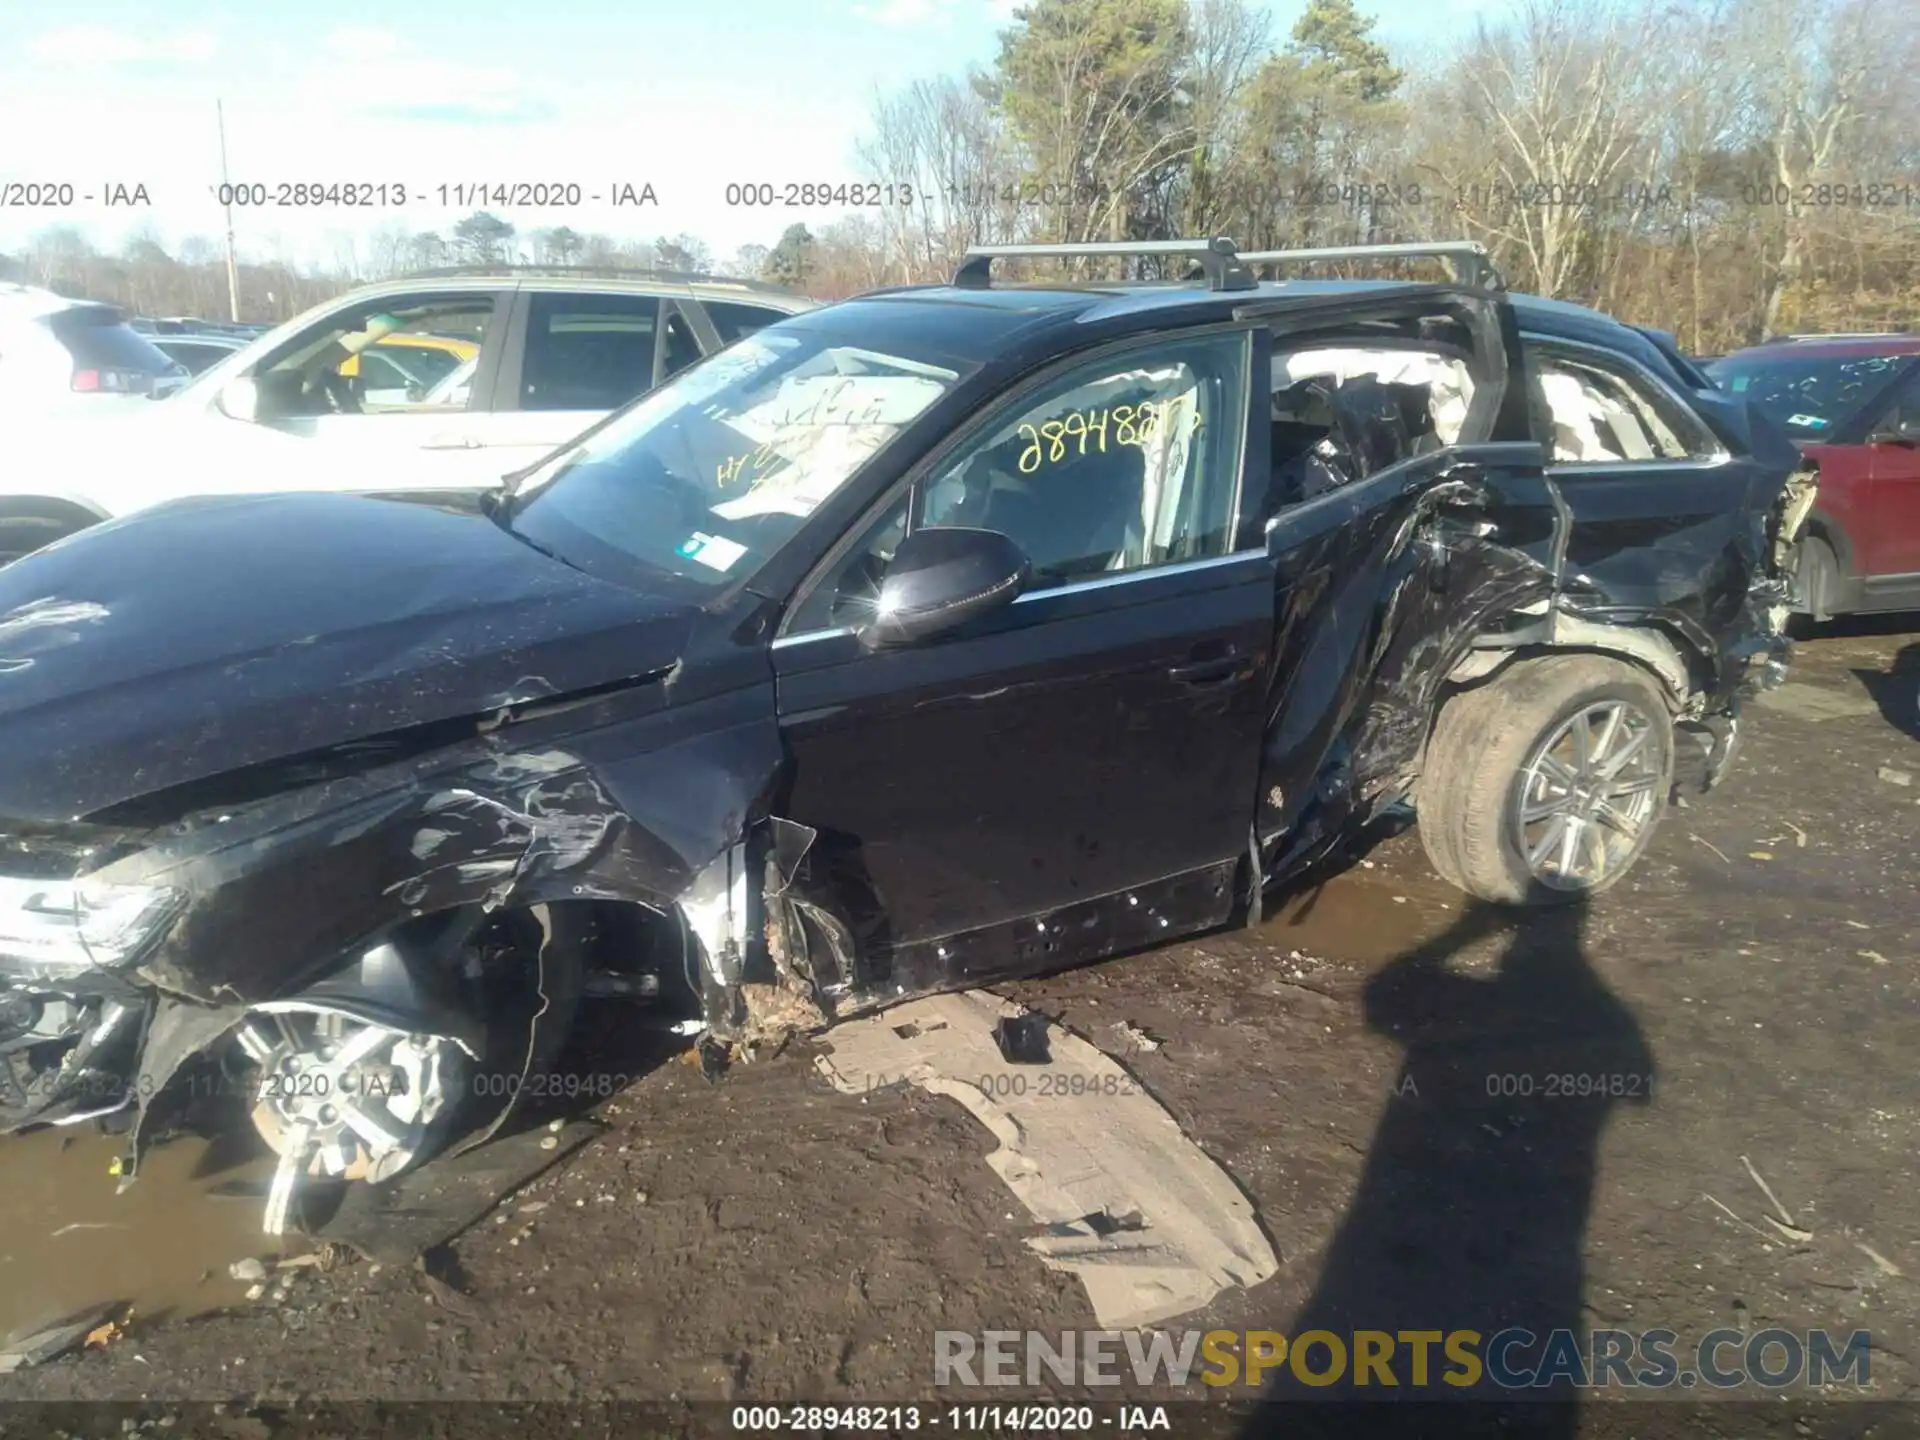
<svg viewBox="0 0 1920 1440">
<path fill-rule="evenodd" d="M 0 1139 L 0 1338 L 113 1302 L 136 1323 L 232 1306 L 248 1286 L 227 1267 L 288 1248 L 259 1233 L 259 1194 L 215 1192 L 265 1185 L 271 1158 L 177 1139 L 115 1194 L 121 1146 L 84 1125 Z"/>
</svg>

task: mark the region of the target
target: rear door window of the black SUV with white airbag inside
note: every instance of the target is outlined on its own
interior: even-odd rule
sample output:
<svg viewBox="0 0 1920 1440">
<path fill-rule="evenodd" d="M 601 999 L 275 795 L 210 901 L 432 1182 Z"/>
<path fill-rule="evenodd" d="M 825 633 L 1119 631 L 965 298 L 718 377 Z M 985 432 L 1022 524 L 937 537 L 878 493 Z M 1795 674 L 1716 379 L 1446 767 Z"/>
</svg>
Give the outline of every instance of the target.
<svg viewBox="0 0 1920 1440">
<path fill-rule="evenodd" d="M 1448 348 L 1275 342 L 1273 474 L 1298 505 L 1457 444 L 1473 403 L 1465 353 Z"/>
</svg>

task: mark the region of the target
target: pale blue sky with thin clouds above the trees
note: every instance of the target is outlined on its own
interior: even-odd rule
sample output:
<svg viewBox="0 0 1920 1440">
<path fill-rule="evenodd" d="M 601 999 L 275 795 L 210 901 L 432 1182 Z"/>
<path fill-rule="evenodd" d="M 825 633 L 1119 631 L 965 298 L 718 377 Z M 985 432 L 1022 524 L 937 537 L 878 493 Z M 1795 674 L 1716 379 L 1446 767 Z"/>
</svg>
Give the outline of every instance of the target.
<svg viewBox="0 0 1920 1440">
<path fill-rule="evenodd" d="M 657 207 L 501 211 L 522 230 L 691 230 L 716 255 L 820 211 L 726 205 L 733 180 L 862 179 L 876 94 L 985 63 L 1018 0 L 0 0 L 0 184 L 71 182 L 71 209 L 0 207 L 0 252 L 71 223 L 117 246 L 219 236 L 213 102 L 234 180 L 388 182 L 405 209 L 236 211 L 242 253 L 365 255 L 382 223 L 445 228 L 440 184 L 651 182 Z M 1361 0 L 1402 54 L 1500 0 Z M 1265 8 L 1284 36 L 1304 0 Z M 79 196 L 144 184 L 148 209 Z M 0 190 L 0 198 L 4 190 Z"/>
</svg>

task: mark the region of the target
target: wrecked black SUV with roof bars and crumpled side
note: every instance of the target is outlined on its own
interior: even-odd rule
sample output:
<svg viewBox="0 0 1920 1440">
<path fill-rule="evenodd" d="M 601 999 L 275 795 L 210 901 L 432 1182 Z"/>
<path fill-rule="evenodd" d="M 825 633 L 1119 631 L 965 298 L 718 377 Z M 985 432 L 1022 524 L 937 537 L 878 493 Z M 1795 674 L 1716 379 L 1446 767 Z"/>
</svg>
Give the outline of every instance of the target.
<svg viewBox="0 0 1920 1440">
<path fill-rule="evenodd" d="M 1194 240 L 797 315 L 476 511 L 100 526 L 0 572 L 0 1129 L 131 1173 L 238 1094 L 278 1231 L 499 1131 L 609 985 L 751 1048 L 1258 918 L 1407 801 L 1473 895 L 1594 893 L 1778 682 L 1811 503 L 1476 246 Z"/>
</svg>

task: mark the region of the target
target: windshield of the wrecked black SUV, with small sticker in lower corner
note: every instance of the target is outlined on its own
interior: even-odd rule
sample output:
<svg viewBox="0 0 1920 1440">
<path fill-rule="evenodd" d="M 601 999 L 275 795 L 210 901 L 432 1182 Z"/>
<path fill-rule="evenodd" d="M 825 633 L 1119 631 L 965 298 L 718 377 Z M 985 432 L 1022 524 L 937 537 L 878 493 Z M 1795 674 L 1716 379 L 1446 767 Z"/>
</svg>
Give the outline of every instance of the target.
<svg viewBox="0 0 1920 1440">
<path fill-rule="evenodd" d="M 522 484 L 509 526 L 593 574 L 741 580 L 960 372 L 774 326 Z"/>
</svg>

